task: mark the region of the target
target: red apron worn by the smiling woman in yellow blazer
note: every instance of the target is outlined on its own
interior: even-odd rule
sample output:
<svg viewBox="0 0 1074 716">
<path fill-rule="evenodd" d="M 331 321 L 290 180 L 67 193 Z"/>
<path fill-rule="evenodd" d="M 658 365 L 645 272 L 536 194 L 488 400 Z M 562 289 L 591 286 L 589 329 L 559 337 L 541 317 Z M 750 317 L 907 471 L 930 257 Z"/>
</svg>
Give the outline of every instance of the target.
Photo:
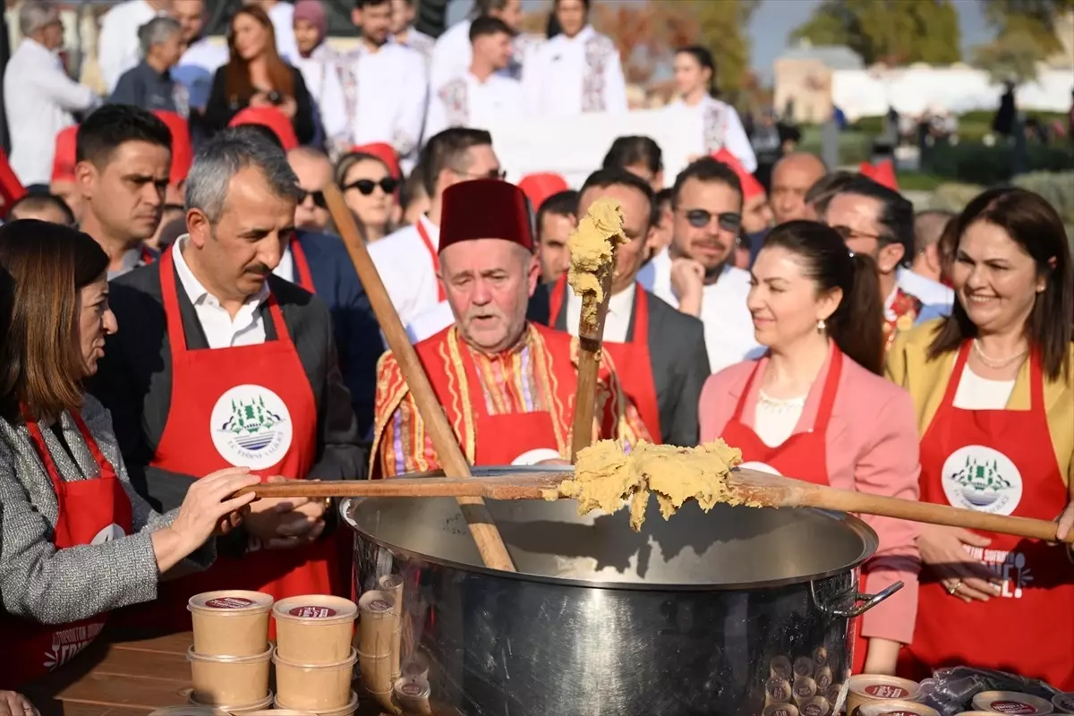
<svg viewBox="0 0 1074 716">
<path fill-rule="evenodd" d="M 1069 499 L 1048 432 L 1041 357 L 1030 357 L 1029 410 L 954 406 L 970 342 L 921 439 L 921 500 L 1051 521 Z M 976 530 L 981 531 L 981 530 Z M 995 532 L 970 554 L 1003 580 L 1002 596 L 967 604 L 921 572 L 914 643 L 900 669 L 915 676 L 967 663 L 1074 689 L 1074 567 L 1062 546 Z"/>
</svg>

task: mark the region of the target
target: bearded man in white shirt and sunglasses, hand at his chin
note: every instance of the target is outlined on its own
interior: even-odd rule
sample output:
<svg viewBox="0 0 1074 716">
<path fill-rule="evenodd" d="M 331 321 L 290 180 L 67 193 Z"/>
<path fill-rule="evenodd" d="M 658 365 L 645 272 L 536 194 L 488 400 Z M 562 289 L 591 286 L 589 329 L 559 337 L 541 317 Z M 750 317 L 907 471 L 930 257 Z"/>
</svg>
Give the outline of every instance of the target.
<svg viewBox="0 0 1074 716">
<path fill-rule="evenodd" d="M 709 365 L 719 372 L 761 352 L 746 307 L 750 274 L 730 264 L 742 224 L 742 185 L 711 157 L 676 178 L 671 246 L 653 258 L 653 293 L 705 324 Z"/>
</svg>

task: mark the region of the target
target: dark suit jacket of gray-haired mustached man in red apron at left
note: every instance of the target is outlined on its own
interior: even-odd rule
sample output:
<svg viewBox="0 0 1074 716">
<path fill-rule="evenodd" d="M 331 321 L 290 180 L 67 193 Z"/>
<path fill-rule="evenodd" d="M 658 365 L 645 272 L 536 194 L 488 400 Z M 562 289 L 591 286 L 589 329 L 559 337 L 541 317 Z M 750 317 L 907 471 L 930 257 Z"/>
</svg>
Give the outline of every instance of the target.
<svg viewBox="0 0 1074 716">
<path fill-rule="evenodd" d="M 208 342 L 182 283 L 176 277 L 179 312 L 188 348 Z M 317 454 L 309 478 L 354 480 L 365 476 L 366 451 L 360 445 L 350 394 L 335 357 L 332 320 L 324 304 L 304 289 L 276 276 L 268 277 L 284 322 L 317 406 Z M 172 356 L 160 290 L 159 264 L 136 268 L 110 284 L 108 303 L 119 331 L 108 336 L 105 356 L 88 392 L 108 410 L 131 484 L 154 509 L 164 512 L 183 503 L 187 488 L 203 476 L 180 474 L 149 465 L 160 442 L 172 399 Z M 262 303 L 262 313 L 267 310 Z M 266 340 L 275 340 L 265 317 Z"/>
</svg>

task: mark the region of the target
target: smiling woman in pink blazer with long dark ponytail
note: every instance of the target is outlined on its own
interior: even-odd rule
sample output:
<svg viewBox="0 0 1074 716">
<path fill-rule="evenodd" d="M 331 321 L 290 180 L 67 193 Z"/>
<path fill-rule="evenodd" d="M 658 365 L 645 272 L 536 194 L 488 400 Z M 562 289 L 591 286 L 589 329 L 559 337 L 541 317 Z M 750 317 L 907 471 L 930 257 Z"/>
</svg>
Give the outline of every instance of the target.
<svg viewBox="0 0 1074 716">
<path fill-rule="evenodd" d="M 701 392 L 701 441 L 723 437 L 746 467 L 844 489 L 917 499 L 918 442 L 910 395 L 881 377 L 883 306 L 876 268 L 834 230 L 792 221 L 772 230 L 749 296 L 759 361 L 732 365 Z M 859 673 L 894 674 L 913 637 L 919 557 L 912 523 L 866 517 L 880 549 L 867 589 L 905 586 L 862 617 Z"/>
</svg>

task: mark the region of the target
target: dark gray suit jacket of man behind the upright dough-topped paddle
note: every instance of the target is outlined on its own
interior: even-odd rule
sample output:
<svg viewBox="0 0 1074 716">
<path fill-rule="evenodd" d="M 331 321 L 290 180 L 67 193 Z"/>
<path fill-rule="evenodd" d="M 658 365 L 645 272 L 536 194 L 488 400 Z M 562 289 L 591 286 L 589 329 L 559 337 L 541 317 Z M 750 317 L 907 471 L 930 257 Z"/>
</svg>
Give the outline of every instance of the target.
<svg viewBox="0 0 1074 716">
<path fill-rule="evenodd" d="M 565 290 L 566 287 L 564 287 Z M 643 289 L 638 286 L 638 291 Z M 567 330 L 566 296 L 560 315 L 551 310 L 551 284 L 538 286 L 529 299 L 526 318 L 560 331 Z M 634 338 L 634 315 L 626 339 Z M 694 447 L 699 427 L 697 404 L 709 377 L 709 354 L 705 350 L 705 326 L 693 316 L 681 313 L 649 293 L 649 362 L 661 413 L 659 436 L 666 444 Z M 656 436 L 653 436 L 656 439 Z"/>
</svg>

